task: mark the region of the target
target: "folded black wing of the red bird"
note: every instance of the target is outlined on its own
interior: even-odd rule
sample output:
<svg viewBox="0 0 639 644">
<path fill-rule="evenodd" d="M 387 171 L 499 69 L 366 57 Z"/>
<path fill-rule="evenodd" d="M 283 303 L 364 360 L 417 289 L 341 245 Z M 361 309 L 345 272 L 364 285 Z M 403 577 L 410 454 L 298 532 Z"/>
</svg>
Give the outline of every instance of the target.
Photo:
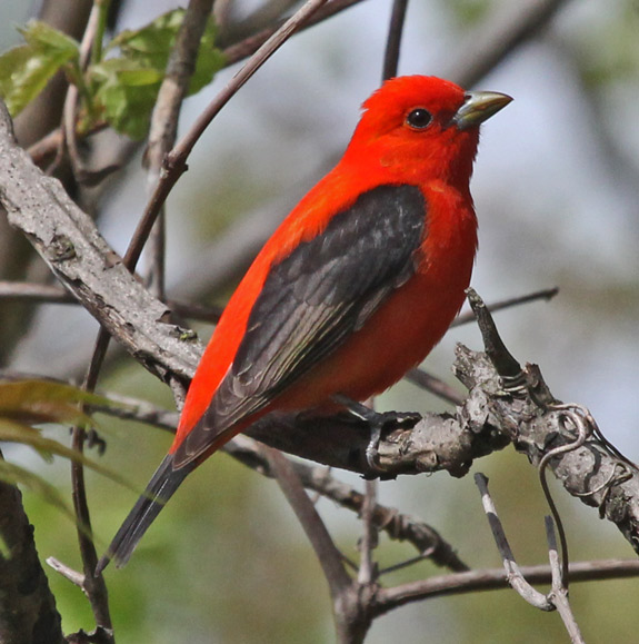
<svg viewBox="0 0 639 644">
<path fill-rule="evenodd" d="M 229 373 L 176 454 L 179 465 L 268 405 L 410 278 L 426 210 L 417 186 L 380 186 L 271 268 Z"/>
</svg>

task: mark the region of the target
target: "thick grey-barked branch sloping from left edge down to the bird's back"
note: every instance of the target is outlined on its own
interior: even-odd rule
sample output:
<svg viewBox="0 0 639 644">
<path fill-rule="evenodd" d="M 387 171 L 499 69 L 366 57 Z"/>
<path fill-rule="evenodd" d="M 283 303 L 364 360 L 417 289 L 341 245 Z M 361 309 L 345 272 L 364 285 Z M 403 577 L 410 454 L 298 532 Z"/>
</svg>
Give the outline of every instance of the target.
<svg viewBox="0 0 639 644">
<path fill-rule="evenodd" d="M 46 177 L 13 140 L 0 106 L 0 200 L 9 221 L 31 241 L 52 273 L 107 330 L 151 373 L 189 378 L 199 345 L 163 324 L 166 306 L 122 266 L 93 221 L 60 182 Z"/>
</svg>

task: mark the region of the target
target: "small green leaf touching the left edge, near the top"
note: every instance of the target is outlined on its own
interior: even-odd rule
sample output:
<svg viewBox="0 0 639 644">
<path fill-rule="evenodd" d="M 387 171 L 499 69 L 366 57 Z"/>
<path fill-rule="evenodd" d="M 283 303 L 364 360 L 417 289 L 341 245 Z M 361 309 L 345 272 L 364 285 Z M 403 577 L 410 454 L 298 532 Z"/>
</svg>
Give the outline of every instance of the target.
<svg viewBox="0 0 639 644">
<path fill-rule="evenodd" d="M 78 42 L 44 22 L 32 20 L 20 32 L 26 44 L 0 56 L 0 96 L 12 116 L 33 100 L 62 66 L 79 58 Z"/>
</svg>

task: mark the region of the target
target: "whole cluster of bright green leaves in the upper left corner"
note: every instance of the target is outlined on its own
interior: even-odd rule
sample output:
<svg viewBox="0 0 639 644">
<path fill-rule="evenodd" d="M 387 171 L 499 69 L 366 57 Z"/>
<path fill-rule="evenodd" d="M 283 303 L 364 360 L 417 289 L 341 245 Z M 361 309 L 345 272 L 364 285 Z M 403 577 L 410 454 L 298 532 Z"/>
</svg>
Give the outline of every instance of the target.
<svg viewBox="0 0 639 644">
<path fill-rule="evenodd" d="M 117 34 L 82 69 L 80 43 L 37 20 L 19 28 L 24 43 L 0 56 L 0 96 L 11 116 L 18 115 L 63 72 L 80 95 L 78 128 L 88 132 L 108 125 L 132 139 L 142 139 L 164 79 L 170 53 L 184 18 L 183 9 L 169 11 L 137 30 Z M 103 33 L 98 33 L 102 38 Z M 189 95 L 211 82 L 224 65 L 214 47 L 216 26 L 209 18 L 202 36 Z"/>
</svg>

